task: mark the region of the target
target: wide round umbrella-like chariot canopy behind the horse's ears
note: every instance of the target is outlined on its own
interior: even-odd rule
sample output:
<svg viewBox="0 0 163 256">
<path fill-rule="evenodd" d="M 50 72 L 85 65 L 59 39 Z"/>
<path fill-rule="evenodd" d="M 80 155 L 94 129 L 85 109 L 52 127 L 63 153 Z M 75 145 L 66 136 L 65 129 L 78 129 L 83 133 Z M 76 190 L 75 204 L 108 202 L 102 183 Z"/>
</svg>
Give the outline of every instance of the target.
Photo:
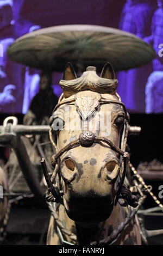
<svg viewBox="0 0 163 256">
<path fill-rule="evenodd" d="M 137 68 L 155 57 L 143 40 L 119 29 L 93 25 L 65 25 L 39 29 L 18 38 L 8 48 L 14 62 L 41 70 L 63 71 L 71 62 L 76 70 L 106 62 L 115 71 Z"/>
</svg>

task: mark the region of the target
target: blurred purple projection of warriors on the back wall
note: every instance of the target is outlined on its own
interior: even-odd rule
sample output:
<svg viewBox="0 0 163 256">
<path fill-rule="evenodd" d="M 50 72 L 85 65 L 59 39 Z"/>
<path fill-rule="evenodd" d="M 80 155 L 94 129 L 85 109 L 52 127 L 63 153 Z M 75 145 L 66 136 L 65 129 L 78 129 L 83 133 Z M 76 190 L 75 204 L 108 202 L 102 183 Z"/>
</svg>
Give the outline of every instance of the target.
<svg viewBox="0 0 163 256">
<path fill-rule="evenodd" d="M 116 72 L 117 93 L 129 113 L 163 113 L 163 1 L 90 0 L 87 5 L 80 1 L 71 8 L 69 5 L 65 0 L 47 0 L 46 5 L 43 0 L 0 1 L 0 113 L 26 114 L 34 97 L 43 92 L 42 70 L 13 62 L 8 47 L 20 36 L 41 28 L 75 24 L 118 28 L 154 48 L 153 62 Z M 62 72 L 49 76 L 57 102 Z"/>
</svg>

